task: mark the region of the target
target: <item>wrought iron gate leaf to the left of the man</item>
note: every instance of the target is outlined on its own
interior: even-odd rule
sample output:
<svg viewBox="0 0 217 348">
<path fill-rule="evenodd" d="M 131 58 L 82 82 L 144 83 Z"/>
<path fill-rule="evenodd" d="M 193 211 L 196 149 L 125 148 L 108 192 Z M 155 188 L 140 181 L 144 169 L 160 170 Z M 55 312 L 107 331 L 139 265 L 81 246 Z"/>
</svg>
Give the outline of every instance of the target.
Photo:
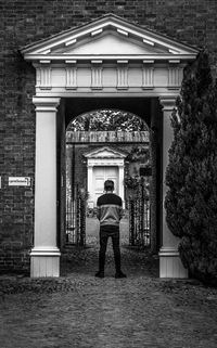
<svg viewBox="0 0 217 348">
<path fill-rule="evenodd" d="M 66 202 L 66 243 L 86 246 L 86 198 L 78 185 Z"/>
</svg>

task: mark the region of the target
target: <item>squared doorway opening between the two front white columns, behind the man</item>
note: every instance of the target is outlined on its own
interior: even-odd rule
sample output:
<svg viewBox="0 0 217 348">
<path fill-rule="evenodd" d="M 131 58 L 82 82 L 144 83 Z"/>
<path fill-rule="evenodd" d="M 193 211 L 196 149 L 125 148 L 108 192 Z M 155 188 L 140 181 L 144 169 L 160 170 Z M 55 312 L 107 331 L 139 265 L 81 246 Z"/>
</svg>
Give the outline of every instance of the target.
<svg viewBox="0 0 217 348">
<path fill-rule="evenodd" d="M 156 163 L 158 145 L 155 128 L 156 124 L 161 127 L 161 107 L 157 99 L 149 102 L 140 100 L 138 103 L 131 99 L 135 105 L 126 99 L 124 109 L 117 107 L 124 105 L 124 99 L 120 99 L 119 103 L 117 99 L 110 103 L 112 99 L 87 99 L 76 103 L 71 101 L 72 105 L 69 100 L 65 101 L 67 126 L 62 249 L 72 253 L 76 246 L 91 247 L 98 242 L 97 197 L 103 193 L 104 180 L 111 178 L 116 183 L 116 193 L 122 195 L 124 202 L 125 217 L 120 223 L 120 231 L 124 232 L 123 245 L 152 247 L 156 253 L 159 244 L 159 223 L 156 219 L 156 210 L 159 209 L 156 196 L 156 166 L 161 164 Z M 88 109 L 87 102 L 89 107 L 99 108 Z M 110 104 L 113 107 L 108 107 Z M 132 113 L 133 108 L 139 115 Z M 76 115 L 81 109 L 84 112 Z M 123 176 L 119 176 L 120 167 Z M 78 202 L 78 196 L 82 198 L 81 203 Z M 133 207 L 138 197 L 143 199 L 143 206 L 140 202 Z"/>
</svg>

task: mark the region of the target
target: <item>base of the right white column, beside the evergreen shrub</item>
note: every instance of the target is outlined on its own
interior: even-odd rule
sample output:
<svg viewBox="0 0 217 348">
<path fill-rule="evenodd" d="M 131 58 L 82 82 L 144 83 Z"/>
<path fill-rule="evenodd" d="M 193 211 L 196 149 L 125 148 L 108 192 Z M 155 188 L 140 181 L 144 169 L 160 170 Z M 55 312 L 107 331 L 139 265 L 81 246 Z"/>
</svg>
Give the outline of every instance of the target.
<svg viewBox="0 0 217 348">
<path fill-rule="evenodd" d="M 158 255 L 159 278 L 187 279 L 189 276 L 188 270 L 183 267 L 177 249 L 162 247 Z"/>
</svg>

